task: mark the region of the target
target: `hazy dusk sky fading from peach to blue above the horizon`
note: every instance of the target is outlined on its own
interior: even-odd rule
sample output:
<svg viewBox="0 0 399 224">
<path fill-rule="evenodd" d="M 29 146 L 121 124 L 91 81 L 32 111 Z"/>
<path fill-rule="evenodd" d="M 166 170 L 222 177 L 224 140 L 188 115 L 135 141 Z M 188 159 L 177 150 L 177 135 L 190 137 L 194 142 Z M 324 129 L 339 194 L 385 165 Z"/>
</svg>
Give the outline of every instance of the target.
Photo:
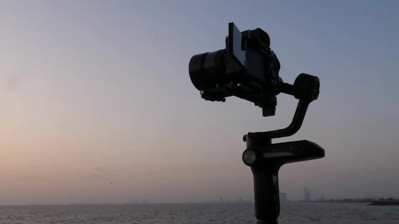
<svg viewBox="0 0 399 224">
<path fill-rule="evenodd" d="M 284 165 L 289 199 L 398 195 L 397 1 L 0 2 L 0 204 L 253 198 L 242 136 L 284 128 L 235 97 L 201 99 L 193 55 L 228 23 L 261 28 L 280 77 L 320 78 L 302 128 L 326 157 Z M 111 185 L 110 182 L 113 182 Z"/>
</svg>

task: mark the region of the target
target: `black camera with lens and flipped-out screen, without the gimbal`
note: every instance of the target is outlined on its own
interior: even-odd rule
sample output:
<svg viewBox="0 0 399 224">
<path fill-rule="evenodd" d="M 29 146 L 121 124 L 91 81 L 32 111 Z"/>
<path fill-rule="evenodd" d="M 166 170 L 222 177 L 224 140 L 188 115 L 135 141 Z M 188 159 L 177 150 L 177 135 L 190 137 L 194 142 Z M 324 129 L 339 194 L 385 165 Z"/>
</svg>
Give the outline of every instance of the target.
<svg viewBox="0 0 399 224">
<path fill-rule="evenodd" d="M 229 23 L 225 44 L 225 49 L 190 59 L 190 79 L 201 98 L 225 102 L 226 97 L 236 96 L 263 108 L 263 116 L 275 115 L 276 96 L 284 92 L 284 83 L 269 35 L 260 28 L 240 32 Z"/>
</svg>

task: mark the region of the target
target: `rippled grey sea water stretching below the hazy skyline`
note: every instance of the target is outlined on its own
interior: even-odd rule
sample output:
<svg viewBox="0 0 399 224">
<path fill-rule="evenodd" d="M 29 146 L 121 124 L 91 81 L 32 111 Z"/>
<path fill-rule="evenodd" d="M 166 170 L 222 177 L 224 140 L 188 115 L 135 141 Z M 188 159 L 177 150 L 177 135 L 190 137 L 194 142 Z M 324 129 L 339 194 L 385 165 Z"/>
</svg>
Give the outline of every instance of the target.
<svg viewBox="0 0 399 224">
<path fill-rule="evenodd" d="M 399 206 L 286 202 L 279 222 L 398 220 Z M 254 224 L 254 205 L 110 204 L 0 206 L 0 224 Z"/>
</svg>

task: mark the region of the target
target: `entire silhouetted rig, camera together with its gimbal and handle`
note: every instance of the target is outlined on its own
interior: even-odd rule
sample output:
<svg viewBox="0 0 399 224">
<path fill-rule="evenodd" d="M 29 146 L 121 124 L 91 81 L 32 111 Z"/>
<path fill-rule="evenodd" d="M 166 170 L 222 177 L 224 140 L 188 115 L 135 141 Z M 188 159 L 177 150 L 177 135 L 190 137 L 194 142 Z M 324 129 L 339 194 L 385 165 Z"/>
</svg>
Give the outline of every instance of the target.
<svg viewBox="0 0 399 224">
<path fill-rule="evenodd" d="M 298 132 L 306 110 L 319 95 L 320 80 L 302 73 L 294 84 L 279 77 L 280 62 L 270 49 L 270 37 L 260 28 L 240 32 L 229 23 L 226 48 L 194 55 L 189 73 L 201 98 L 225 102 L 237 96 L 262 108 L 263 116 L 274 116 L 277 95 L 282 93 L 299 100 L 291 124 L 269 132 L 249 132 L 242 159 L 251 167 L 254 177 L 255 216 L 257 224 L 277 224 L 280 214 L 279 178 L 282 165 L 324 157 L 324 149 L 308 140 L 272 144 L 273 138 L 292 136 Z"/>
</svg>

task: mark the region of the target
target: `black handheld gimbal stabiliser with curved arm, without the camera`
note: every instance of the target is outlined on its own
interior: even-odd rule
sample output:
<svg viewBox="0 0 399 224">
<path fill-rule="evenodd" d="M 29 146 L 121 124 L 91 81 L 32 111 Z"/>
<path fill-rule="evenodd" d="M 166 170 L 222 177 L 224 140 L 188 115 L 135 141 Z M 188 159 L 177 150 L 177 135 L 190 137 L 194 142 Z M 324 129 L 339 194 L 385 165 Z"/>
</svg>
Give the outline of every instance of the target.
<svg viewBox="0 0 399 224">
<path fill-rule="evenodd" d="M 310 102 L 318 96 L 318 86 L 317 77 L 304 73 L 296 78 L 294 85 L 284 83 L 284 93 L 299 99 L 291 124 L 275 131 L 249 132 L 243 137 L 247 143 L 243 162 L 251 167 L 253 173 L 257 224 L 278 223 L 280 167 L 286 163 L 320 159 L 325 155 L 322 147 L 308 140 L 271 143 L 273 138 L 288 137 L 298 132 Z"/>
</svg>

